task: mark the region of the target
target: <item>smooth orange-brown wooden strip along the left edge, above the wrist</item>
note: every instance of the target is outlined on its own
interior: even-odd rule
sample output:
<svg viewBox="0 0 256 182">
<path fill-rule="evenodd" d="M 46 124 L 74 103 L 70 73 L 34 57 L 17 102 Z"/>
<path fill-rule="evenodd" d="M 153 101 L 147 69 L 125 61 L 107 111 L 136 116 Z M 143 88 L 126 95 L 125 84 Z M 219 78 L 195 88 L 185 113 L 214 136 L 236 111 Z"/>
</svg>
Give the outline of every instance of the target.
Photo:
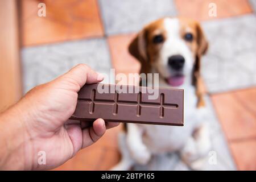
<svg viewBox="0 0 256 182">
<path fill-rule="evenodd" d="M 0 1 L 0 111 L 22 96 L 18 2 Z"/>
</svg>

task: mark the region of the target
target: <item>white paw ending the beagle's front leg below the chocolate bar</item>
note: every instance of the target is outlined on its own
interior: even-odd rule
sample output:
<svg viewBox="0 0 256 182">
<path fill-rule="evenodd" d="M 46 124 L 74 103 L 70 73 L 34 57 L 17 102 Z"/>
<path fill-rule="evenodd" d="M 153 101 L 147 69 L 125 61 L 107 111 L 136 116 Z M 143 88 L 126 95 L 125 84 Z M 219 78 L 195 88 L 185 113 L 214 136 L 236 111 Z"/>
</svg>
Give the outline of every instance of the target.
<svg viewBox="0 0 256 182">
<path fill-rule="evenodd" d="M 148 151 L 146 146 L 136 147 L 135 150 L 131 151 L 131 156 L 135 162 L 145 165 L 150 161 L 151 153 Z"/>
</svg>

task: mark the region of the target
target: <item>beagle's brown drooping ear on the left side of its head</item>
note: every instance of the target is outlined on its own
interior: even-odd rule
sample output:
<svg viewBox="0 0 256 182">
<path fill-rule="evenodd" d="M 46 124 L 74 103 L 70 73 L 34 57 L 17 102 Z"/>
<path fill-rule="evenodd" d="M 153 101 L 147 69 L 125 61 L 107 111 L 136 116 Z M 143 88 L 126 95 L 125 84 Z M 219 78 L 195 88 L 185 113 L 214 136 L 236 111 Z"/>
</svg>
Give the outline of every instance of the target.
<svg viewBox="0 0 256 182">
<path fill-rule="evenodd" d="M 148 73 L 150 71 L 150 63 L 147 54 L 147 31 L 144 28 L 138 33 L 129 45 L 129 52 L 141 63 L 140 73 Z"/>
</svg>

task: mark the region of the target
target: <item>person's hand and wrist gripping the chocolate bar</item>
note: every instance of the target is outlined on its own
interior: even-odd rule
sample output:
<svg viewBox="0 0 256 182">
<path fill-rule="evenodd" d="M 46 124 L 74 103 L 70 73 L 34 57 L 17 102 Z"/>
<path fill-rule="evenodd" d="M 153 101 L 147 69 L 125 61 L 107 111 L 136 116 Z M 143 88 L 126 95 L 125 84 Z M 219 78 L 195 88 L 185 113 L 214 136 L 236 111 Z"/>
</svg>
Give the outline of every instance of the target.
<svg viewBox="0 0 256 182">
<path fill-rule="evenodd" d="M 77 92 L 86 84 L 104 79 L 85 64 L 30 90 L 17 104 L 0 115 L 0 169 L 51 169 L 71 159 L 79 150 L 90 146 L 118 123 L 97 119 L 71 121 Z M 9 128 L 9 131 L 5 129 Z M 0 142 L 1 143 L 1 142 Z M 38 163 L 38 152 L 46 154 L 46 164 Z M 14 162 L 17 162 L 14 165 Z M 14 168 L 16 166 L 16 168 Z"/>
</svg>

